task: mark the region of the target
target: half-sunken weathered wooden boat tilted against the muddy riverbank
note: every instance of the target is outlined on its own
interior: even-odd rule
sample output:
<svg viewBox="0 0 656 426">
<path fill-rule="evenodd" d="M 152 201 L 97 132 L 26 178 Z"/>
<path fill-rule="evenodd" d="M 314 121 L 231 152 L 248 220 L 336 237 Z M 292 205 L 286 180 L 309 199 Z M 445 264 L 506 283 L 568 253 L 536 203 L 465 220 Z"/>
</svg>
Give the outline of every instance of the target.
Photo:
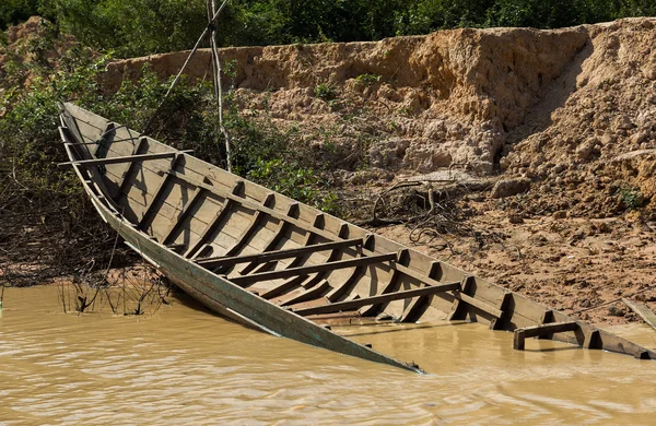
<svg viewBox="0 0 656 426">
<path fill-rule="evenodd" d="M 61 138 L 101 217 L 210 309 L 274 335 L 409 370 L 326 327 L 386 315 L 467 320 L 587 350 L 656 353 L 110 122 L 61 106 Z M 457 326 L 454 326 L 457 327 Z"/>
</svg>

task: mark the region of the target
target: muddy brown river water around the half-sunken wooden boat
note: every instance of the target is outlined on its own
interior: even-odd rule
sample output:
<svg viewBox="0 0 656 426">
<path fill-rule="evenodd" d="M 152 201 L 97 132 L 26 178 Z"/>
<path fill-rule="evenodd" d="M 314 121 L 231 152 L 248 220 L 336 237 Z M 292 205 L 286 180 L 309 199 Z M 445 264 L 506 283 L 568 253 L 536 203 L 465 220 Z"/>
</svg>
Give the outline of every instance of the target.
<svg viewBox="0 0 656 426">
<path fill-rule="evenodd" d="M 207 313 L 63 313 L 52 286 L 9 288 L 0 424 L 654 424 L 656 362 L 476 323 L 336 328 L 417 375 Z M 653 347 L 656 332 L 616 329 Z"/>
</svg>

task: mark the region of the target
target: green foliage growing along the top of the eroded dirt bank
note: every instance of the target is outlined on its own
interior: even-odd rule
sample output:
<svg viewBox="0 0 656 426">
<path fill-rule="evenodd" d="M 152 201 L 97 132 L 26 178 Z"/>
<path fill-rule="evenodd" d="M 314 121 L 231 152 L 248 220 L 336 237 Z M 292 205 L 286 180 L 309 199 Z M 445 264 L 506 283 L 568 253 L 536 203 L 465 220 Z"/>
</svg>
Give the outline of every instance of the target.
<svg viewBox="0 0 656 426">
<path fill-rule="evenodd" d="M 3 0 L 0 28 L 37 11 L 87 46 L 120 57 L 188 49 L 207 25 L 204 0 Z M 233 0 L 219 19 L 218 34 L 222 46 L 354 42 L 655 14 L 653 0 Z"/>
</svg>

